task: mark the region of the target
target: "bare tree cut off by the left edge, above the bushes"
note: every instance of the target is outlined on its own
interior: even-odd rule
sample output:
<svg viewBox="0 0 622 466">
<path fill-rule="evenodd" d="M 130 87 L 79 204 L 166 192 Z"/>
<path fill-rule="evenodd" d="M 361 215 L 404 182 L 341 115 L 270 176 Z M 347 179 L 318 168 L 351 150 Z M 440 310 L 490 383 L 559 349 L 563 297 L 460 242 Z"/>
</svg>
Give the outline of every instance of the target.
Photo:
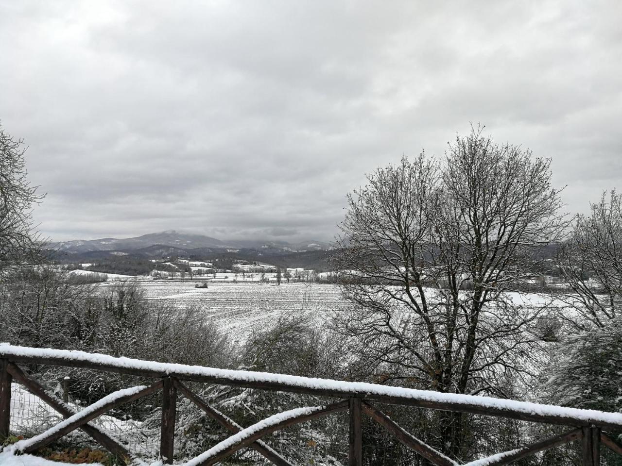
<svg viewBox="0 0 622 466">
<path fill-rule="evenodd" d="M 27 180 L 26 147 L 0 126 L 0 270 L 32 263 L 39 257 L 39 237 L 31 209 L 43 195 Z"/>
</svg>

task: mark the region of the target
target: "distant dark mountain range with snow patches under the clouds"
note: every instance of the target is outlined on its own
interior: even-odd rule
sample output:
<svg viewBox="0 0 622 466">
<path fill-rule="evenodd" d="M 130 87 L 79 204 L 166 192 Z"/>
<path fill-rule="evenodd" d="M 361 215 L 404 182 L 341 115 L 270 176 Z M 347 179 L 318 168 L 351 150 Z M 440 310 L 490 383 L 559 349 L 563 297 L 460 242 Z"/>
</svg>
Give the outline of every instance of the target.
<svg viewBox="0 0 622 466">
<path fill-rule="evenodd" d="M 192 250 L 206 252 L 234 252 L 235 250 L 264 250 L 272 253 L 330 250 L 330 244 L 320 241 L 305 241 L 290 244 L 285 241 L 239 240 L 222 241 L 210 236 L 188 234 L 174 230 L 150 233 L 132 238 L 102 238 L 93 240 L 72 240 L 50 243 L 49 249 L 61 254 L 85 254 L 94 251 L 121 254 L 132 252 L 144 256 L 183 255 Z"/>
</svg>

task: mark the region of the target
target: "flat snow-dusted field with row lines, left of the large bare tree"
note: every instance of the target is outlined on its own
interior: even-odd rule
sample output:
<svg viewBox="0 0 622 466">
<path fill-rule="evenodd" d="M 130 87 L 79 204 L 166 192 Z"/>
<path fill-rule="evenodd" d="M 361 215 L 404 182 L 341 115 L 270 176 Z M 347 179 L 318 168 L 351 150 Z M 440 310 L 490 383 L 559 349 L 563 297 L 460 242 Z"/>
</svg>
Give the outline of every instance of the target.
<svg viewBox="0 0 622 466">
<path fill-rule="evenodd" d="M 195 288 L 181 281 L 145 281 L 148 299 L 163 299 L 176 306 L 198 306 L 205 317 L 232 336 L 248 334 L 255 326 L 276 321 L 287 311 L 305 311 L 322 318 L 328 311 L 350 304 L 335 285 L 323 283 L 210 283 Z"/>
</svg>

